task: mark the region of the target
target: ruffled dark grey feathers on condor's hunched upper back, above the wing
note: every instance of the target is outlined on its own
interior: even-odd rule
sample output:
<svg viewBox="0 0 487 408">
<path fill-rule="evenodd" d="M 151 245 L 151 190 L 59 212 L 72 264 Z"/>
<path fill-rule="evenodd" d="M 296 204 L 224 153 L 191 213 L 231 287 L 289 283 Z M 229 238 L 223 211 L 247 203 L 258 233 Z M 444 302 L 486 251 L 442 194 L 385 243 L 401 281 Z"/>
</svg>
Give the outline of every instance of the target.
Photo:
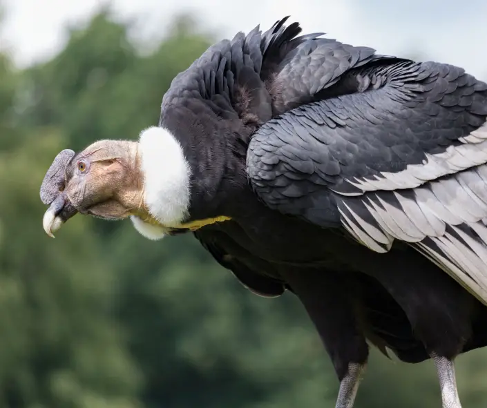
<svg viewBox="0 0 487 408">
<path fill-rule="evenodd" d="M 299 23 L 285 26 L 287 19 L 263 34 L 257 26 L 248 35 L 239 32 L 208 48 L 173 79 L 162 100 L 161 122 L 164 106 L 191 97 L 221 117 L 236 113 L 255 129 L 300 104 L 326 97 L 323 90 L 336 85 L 347 70 L 379 59 L 398 61 L 376 55 L 372 48 L 321 38 L 321 32 L 298 37 Z"/>
</svg>

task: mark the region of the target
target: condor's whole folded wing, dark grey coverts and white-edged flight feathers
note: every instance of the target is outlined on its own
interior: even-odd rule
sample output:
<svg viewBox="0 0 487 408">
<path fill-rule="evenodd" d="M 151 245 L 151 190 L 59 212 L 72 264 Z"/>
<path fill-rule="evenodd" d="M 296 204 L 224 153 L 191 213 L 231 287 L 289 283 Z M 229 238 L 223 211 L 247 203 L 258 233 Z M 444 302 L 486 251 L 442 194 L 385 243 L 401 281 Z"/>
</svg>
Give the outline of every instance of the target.
<svg viewBox="0 0 487 408">
<path fill-rule="evenodd" d="M 254 134 L 256 194 L 372 251 L 408 242 L 487 304 L 487 84 L 436 63 L 358 78 L 363 92 L 305 104 Z"/>
</svg>

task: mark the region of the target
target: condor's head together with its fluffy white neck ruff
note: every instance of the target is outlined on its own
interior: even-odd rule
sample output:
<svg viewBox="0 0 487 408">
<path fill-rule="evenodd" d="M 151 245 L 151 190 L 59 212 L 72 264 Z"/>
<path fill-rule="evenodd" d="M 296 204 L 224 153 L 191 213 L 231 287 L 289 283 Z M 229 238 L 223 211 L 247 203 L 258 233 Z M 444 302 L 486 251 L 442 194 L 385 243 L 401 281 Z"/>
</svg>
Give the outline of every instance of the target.
<svg viewBox="0 0 487 408">
<path fill-rule="evenodd" d="M 82 152 L 63 150 L 41 185 L 44 231 L 53 233 L 77 213 L 106 220 L 131 217 L 145 237 L 178 229 L 189 208 L 190 168 L 167 130 L 148 128 L 137 142 L 100 140 Z"/>
</svg>

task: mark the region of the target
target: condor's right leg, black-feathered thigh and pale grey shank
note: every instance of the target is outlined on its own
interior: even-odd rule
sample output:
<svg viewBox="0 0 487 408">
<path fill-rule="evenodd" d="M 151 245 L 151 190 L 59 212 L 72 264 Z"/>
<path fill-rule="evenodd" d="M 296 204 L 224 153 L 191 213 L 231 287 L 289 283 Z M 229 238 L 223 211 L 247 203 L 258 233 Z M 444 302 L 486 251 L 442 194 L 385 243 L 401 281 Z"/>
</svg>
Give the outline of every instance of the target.
<svg viewBox="0 0 487 408">
<path fill-rule="evenodd" d="M 471 295 L 414 249 L 379 256 L 384 262 L 373 264 L 372 257 L 362 262 L 401 306 L 434 360 L 443 408 L 461 408 L 452 359 L 471 336 Z"/>
</svg>

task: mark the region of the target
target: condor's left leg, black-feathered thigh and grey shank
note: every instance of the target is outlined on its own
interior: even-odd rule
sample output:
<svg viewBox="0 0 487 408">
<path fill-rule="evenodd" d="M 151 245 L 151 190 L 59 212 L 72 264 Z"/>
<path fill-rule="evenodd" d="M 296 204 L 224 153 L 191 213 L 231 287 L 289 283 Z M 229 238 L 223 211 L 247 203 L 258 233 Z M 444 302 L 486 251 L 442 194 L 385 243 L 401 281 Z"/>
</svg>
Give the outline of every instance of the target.
<svg viewBox="0 0 487 408">
<path fill-rule="evenodd" d="M 352 408 L 368 358 L 365 336 L 359 329 L 350 285 L 340 274 L 298 271 L 284 276 L 303 303 L 330 356 L 340 391 L 336 408 Z"/>
</svg>

